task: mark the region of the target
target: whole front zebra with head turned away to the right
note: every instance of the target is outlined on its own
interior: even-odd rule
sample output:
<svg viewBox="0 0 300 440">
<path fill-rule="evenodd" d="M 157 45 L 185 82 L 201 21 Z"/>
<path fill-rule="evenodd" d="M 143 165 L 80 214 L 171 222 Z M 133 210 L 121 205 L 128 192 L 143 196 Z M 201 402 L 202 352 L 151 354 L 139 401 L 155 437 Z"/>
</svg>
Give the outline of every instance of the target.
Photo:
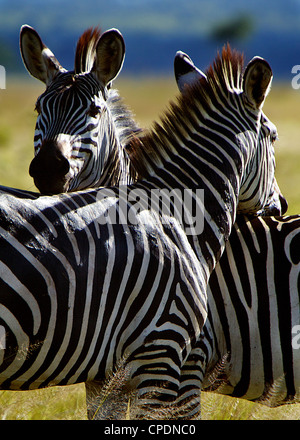
<svg viewBox="0 0 300 440">
<path fill-rule="evenodd" d="M 113 210 L 119 217 L 134 211 L 136 200 L 127 199 L 121 212 L 122 185 L 51 197 L 2 189 L 1 389 L 85 382 L 89 394 L 126 355 L 127 386 L 142 404 L 194 397 L 184 418 L 199 413 L 203 377 L 187 392 L 185 364 L 198 353 L 209 275 L 238 204 L 244 213 L 273 209 L 274 199 L 280 206 L 276 133 L 262 114 L 272 71 L 258 57 L 244 74 L 242 68 L 241 55 L 224 48 L 207 79 L 127 147 L 139 174 L 131 194 L 150 199 L 157 189 L 204 189 L 202 233 L 187 235 L 184 222 L 162 206 L 143 205 L 131 222 L 103 221 Z M 262 160 L 269 165 L 260 167 Z"/>
</svg>

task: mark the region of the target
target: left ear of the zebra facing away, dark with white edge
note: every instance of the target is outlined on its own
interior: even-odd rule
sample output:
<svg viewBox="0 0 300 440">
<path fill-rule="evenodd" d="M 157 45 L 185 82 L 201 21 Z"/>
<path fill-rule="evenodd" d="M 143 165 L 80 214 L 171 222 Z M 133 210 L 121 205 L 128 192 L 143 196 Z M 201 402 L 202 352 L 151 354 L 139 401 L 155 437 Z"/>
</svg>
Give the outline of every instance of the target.
<svg viewBox="0 0 300 440">
<path fill-rule="evenodd" d="M 192 85 L 200 78 L 206 79 L 206 75 L 194 65 L 191 58 L 181 51 L 175 55 L 174 73 L 180 92 L 183 92 L 186 85 Z"/>
</svg>

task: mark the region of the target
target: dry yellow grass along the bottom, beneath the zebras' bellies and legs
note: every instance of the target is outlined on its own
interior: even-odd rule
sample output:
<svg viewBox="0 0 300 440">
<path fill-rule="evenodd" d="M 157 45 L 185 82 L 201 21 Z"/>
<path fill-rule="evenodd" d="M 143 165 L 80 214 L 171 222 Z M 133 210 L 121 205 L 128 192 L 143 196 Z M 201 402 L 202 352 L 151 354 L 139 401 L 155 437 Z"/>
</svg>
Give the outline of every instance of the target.
<svg viewBox="0 0 300 440">
<path fill-rule="evenodd" d="M 125 401 L 121 393 L 124 377 L 126 374 L 124 376 L 122 372 L 113 376 L 105 384 L 103 393 L 95 396 L 91 404 L 98 416 L 105 416 L 107 408 L 103 404 L 110 399 L 110 407 L 123 412 L 124 419 L 136 419 L 140 408 L 134 395 Z M 111 417 L 110 413 L 107 419 Z M 145 411 L 145 419 L 148 420 L 168 420 L 173 417 L 172 407 Z M 243 399 L 203 392 L 201 419 L 300 420 L 300 404 L 270 408 Z M 0 420 L 86 420 L 85 386 L 77 384 L 34 391 L 0 391 Z"/>
</svg>

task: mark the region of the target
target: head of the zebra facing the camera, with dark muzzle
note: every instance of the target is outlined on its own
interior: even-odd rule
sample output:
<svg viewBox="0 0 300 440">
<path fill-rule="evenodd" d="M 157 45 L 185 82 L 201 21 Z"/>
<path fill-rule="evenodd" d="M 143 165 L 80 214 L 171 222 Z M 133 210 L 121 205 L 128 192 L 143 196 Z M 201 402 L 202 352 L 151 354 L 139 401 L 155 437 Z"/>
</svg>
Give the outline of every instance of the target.
<svg viewBox="0 0 300 440">
<path fill-rule="evenodd" d="M 112 164 L 117 166 L 110 155 L 121 149 L 108 103 L 117 99 L 110 86 L 123 65 L 121 33 L 85 31 L 74 71 L 64 69 L 27 25 L 21 28 L 20 51 L 29 73 L 46 84 L 36 103 L 35 157 L 29 168 L 35 185 L 44 194 L 98 186 L 101 177 L 112 174 Z"/>
</svg>

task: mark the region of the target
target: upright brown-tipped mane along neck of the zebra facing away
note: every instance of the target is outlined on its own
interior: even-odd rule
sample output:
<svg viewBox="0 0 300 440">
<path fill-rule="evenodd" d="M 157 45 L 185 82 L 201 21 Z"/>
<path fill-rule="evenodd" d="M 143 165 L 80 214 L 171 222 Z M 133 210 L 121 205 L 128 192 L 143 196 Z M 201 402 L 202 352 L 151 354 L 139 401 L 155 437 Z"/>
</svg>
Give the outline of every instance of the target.
<svg viewBox="0 0 300 440">
<path fill-rule="evenodd" d="M 169 108 L 155 122 L 152 129 L 136 136 L 127 146 L 127 154 L 132 166 L 140 178 L 146 177 L 162 160 L 168 160 L 170 153 L 178 154 L 175 146 L 178 139 L 185 137 L 185 126 L 190 126 L 195 115 L 202 113 L 205 119 L 206 108 L 220 95 L 229 97 L 230 93 L 242 90 L 243 55 L 231 50 L 229 44 L 218 52 L 214 63 L 207 69 L 206 78 L 202 77 L 187 87 L 170 102 Z"/>
</svg>

